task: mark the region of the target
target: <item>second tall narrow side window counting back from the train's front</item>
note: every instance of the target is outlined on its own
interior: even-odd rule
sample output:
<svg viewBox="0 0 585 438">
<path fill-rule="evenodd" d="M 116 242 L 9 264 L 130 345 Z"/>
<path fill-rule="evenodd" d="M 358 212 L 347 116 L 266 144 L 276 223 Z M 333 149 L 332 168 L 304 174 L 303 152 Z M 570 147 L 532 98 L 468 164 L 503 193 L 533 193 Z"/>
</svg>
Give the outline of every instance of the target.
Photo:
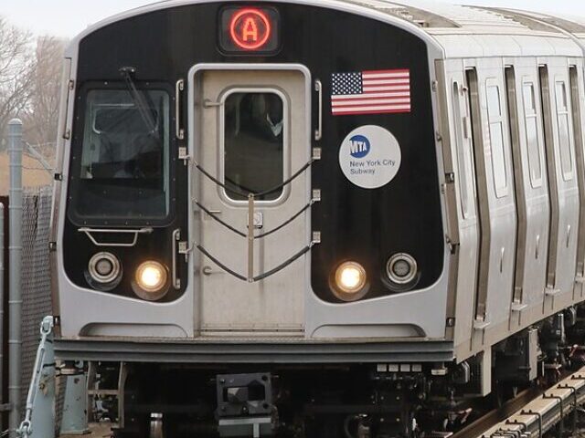
<svg viewBox="0 0 585 438">
<path fill-rule="evenodd" d="M 502 101 L 500 86 L 495 80 L 487 80 L 486 91 L 495 196 L 503 198 L 508 194 L 507 175 L 505 174 L 504 102 Z"/>
</svg>

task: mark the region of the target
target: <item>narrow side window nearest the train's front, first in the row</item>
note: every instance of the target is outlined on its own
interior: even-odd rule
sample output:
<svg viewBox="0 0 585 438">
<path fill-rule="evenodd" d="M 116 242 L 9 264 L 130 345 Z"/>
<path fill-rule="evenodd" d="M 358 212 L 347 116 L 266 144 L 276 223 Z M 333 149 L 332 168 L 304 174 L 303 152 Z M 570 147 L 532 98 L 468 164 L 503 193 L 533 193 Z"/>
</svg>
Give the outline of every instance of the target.
<svg viewBox="0 0 585 438">
<path fill-rule="evenodd" d="M 471 170 L 469 169 L 469 162 L 471 162 L 469 154 L 470 150 L 463 140 L 464 124 L 466 119 L 462 117 L 461 111 L 461 91 L 460 85 L 457 82 L 453 82 L 452 89 L 453 97 L 453 114 L 455 123 L 455 141 L 457 147 L 457 168 L 459 170 L 459 191 L 461 197 L 461 209 L 463 218 L 469 217 L 469 203 L 470 203 L 470 189 L 473 190 L 469 175 Z"/>
</svg>

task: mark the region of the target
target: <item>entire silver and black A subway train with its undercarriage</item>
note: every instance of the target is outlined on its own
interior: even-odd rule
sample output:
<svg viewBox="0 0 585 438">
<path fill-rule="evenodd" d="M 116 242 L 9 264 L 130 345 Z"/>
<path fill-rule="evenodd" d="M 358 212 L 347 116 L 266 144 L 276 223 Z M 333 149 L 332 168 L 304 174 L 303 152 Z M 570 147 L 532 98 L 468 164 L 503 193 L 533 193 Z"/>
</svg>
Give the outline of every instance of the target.
<svg viewBox="0 0 585 438">
<path fill-rule="evenodd" d="M 584 55 L 585 20 L 406 0 L 91 26 L 56 357 L 114 370 L 117 438 L 448 437 L 558 380 L 585 361 Z"/>
</svg>

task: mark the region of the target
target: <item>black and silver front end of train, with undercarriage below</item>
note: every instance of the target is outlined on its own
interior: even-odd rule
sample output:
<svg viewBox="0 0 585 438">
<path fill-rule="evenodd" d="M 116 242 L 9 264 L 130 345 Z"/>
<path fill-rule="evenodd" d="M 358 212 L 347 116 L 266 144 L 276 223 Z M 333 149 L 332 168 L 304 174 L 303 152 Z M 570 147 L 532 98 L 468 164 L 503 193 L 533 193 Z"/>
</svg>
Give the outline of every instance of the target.
<svg viewBox="0 0 585 438">
<path fill-rule="evenodd" d="M 116 436 L 414 433 L 453 357 L 437 57 L 341 2 L 163 2 L 73 42 L 56 346 L 123 362 Z"/>
</svg>

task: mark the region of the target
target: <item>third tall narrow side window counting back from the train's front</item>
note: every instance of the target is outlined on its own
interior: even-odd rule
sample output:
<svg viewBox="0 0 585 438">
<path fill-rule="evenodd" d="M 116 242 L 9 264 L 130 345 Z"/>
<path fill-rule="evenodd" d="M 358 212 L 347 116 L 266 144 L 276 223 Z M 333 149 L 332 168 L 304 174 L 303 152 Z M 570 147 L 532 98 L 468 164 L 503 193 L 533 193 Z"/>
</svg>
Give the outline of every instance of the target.
<svg viewBox="0 0 585 438">
<path fill-rule="evenodd" d="M 530 184 L 533 188 L 542 186 L 542 157 L 538 140 L 537 95 L 534 82 L 525 82 L 522 86 L 524 95 L 524 118 L 527 126 L 528 170 Z"/>
</svg>

